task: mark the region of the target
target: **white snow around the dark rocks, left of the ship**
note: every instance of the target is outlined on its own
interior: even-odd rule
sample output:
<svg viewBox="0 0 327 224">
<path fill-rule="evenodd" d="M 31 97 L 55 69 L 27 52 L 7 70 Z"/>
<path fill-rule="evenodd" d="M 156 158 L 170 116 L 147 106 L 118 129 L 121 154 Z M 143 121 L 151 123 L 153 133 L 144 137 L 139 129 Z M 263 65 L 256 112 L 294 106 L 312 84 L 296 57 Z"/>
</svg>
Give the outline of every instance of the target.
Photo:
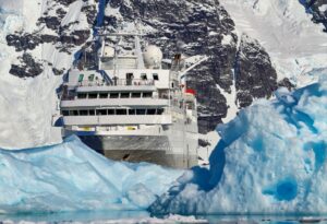
<svg viewBox="0 0 327 224">
<path fill-rule="evenodd" d="M 49 3 L 50 2 L 50 3 Z M 52 2 L 53 3 L 53 2 Z M 63 24 L 80 21 L 75 27 L 86 26 L 85 14 L 81 12 L 82 0 L 75 8 L 68 8 Z M 43 63 L 44 72 L 37 78 L 19 79 L 9 73 L 11 64 L 17 63 L 14 47 L 7 45 L 5 36 L 14 32 L 52 34 L 47 27 L 36 26 L 38 17 L 48 11 L 47 0 L 0 0 L 0 145 L 23 149 L 61 142 L 60 130 L 51 127 L 56 111 L 58 89 L 62 76 L 53 75 L 52 68 L 68 70 L 74 54 L 60 52 L 52 44 L 43 44 L 27 50 Z M 84 27 L 85 28 L 85 27 Z M 77 50 L 77 49 L 76 49 Z M 49 66 L 51 64 L 51 66 Z"/>
</svg>

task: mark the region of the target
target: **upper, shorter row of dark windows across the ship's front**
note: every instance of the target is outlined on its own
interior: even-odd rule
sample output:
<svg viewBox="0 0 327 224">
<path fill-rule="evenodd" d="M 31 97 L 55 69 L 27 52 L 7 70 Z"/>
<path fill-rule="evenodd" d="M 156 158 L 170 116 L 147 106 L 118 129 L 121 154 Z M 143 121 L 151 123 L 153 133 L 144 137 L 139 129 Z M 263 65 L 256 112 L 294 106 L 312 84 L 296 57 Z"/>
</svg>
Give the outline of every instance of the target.
<svg viewBox="0 0 327 224">
<path fill-rule="evenodd" d="M 77 98 L 150 98 L 152 92 L 133 93 L 78 93 Z"/>
</svg>

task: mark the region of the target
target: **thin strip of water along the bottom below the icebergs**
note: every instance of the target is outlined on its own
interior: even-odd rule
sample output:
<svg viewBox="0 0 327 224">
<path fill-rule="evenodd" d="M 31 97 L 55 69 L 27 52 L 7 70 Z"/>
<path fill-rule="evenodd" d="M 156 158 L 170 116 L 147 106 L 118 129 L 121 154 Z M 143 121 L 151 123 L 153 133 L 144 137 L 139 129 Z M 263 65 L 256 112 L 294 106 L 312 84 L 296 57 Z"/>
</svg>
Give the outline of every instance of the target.
<svg viewBox="0 0 327 224">
<path fill-rule="evenodd" d="M 114 223 L 124 223 L 124 220 L 137 221 L 150 217 L 146 211 L 98 211 L 98 212 L 62 212 L 47 214 L 0 214 L 0 223 L 11 221 L 14 223 L 27 222 L 47 222 L 47 223 L 90 223 L 118 221 Z M 165 219 L 165 216 L 156 216 Z M 206 220 L 207 223 L 221 224 L 327 224 L 327 215 L 302 216 L 302 215 L 198 215 L 198 220 Z M 130 222 L 129 222 L 130 223 Z M 203 223 L 203 222 L 201 222 Z"/>
</svg>

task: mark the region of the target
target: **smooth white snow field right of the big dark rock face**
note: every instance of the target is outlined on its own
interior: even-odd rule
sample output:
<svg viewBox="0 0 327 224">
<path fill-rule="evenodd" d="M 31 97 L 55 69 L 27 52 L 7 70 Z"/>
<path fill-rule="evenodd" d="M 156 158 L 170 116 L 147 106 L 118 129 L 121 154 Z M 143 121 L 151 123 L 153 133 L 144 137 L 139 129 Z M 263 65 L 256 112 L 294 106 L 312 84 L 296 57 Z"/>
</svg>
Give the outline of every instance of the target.
<svg viewBox="0 0 327 224">
<path fill-rule="evenodd" d="M 266 48 L 278 78 L 298 86 L 315 81 L 308 72 L 327 67 L 327 34 L 314 24 L 299 0 L 220 0 L 235 22 Z"/>
</svg>

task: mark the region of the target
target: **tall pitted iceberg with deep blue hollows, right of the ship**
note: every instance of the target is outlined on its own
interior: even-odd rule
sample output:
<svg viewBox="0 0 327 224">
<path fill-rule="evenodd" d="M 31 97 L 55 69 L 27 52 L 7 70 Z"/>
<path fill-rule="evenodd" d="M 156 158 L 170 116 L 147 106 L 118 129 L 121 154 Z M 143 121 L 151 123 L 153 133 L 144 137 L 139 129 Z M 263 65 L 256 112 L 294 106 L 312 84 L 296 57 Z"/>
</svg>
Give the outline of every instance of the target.
<svg viewBox="0 0 327 224">
<path fill-rule="evenodd" d="M 153 213 L 327 213 L 327 79 L 259 101 L 218 126 L 210 168 L 195 167 Z"/>
</svg>

